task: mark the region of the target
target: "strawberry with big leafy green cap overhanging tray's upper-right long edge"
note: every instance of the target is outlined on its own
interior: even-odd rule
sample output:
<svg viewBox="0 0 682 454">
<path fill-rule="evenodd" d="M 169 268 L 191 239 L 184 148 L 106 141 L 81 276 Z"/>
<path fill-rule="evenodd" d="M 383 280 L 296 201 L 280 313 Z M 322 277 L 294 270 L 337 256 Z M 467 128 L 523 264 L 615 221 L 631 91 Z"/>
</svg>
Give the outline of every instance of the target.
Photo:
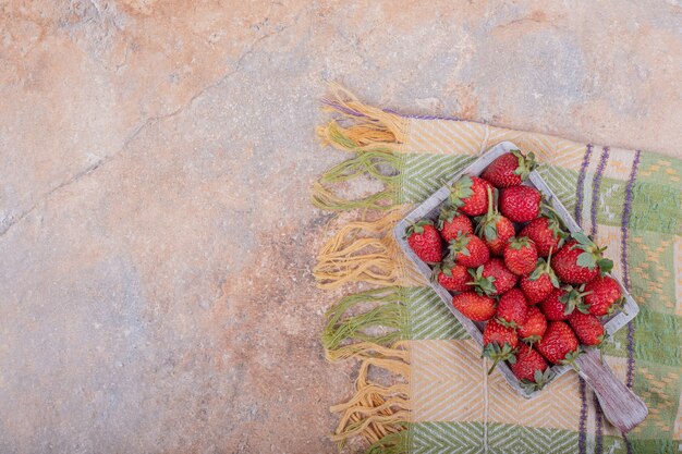
<svg viewBox="0 0 682 454">
<path fill-rule="evenodd" d="M 569 284 L 585 284 L 597 275 L 611 271 L 613 261 L 604 258 L 606 247 L 598 247 L 583 232 L 573 232 L 572 241 L 557 251 L 552 268 L 559 280 Z"/>
</svg>

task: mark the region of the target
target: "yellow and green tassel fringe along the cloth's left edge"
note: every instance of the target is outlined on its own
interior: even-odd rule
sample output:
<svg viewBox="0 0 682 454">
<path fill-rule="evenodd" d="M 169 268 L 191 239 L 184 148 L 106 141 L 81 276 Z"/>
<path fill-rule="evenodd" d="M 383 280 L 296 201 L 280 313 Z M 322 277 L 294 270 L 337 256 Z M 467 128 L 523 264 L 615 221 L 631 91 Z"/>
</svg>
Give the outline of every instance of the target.
<svg viewBox="0 0 682 454">
<path fill-rule="evenodd" d="M 350 91 L 330 84 L 324 110 L 334 115 L 317 128 L 325 145 L 355 152 L 334 165 L 313 185 L 313 204 L 319 208 L 383 211 L 374 220 L 362 219 L 340 229 L 321 248 L 313 274 L 318 286 L 336 290 L 348 283 L 378 289 L 350 295 L 327 311 L 322 345 L 328 360 L 361 361 L 355 393 L 331 412 L 341 418 L 332 440 L 341 447 L 352 437 L 363 437 L 368 453 L 402 454 L 409 447 L 411 418 L 410 354 L 406 348 L 405 286 L 424 285 L 424 278 L 404 257 L 393 237 L 395 223 L 406 207 L 398 206 L 402 157 L 409 121 L 367 106 Z M 367 175 L 383 189 L 360 199 L 332 192 L 333 185 Z M 358 309 L 363 312 L 358 314 Z M 391 385 L 369 380 L 370 369 L 393 373 Z"/>
</svg>

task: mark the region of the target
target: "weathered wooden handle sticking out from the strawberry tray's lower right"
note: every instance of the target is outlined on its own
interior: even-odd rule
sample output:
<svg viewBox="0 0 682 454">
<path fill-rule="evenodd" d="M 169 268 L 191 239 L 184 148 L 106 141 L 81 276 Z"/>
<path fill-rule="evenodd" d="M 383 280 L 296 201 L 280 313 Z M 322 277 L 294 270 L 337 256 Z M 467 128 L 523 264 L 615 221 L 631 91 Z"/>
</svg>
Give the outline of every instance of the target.
<svg viewBox="0 0 682 454">
<path fill-rule="evenodd" d="M 604 416 L 613 426 L 628 432 L 646 418 L 649 413 L 646 404 L 613 375 L 607 364 L 601 363 L 596 349 L 589 348 L 575 363 L 580 376 L 597 394 Z"/>
</svg>

